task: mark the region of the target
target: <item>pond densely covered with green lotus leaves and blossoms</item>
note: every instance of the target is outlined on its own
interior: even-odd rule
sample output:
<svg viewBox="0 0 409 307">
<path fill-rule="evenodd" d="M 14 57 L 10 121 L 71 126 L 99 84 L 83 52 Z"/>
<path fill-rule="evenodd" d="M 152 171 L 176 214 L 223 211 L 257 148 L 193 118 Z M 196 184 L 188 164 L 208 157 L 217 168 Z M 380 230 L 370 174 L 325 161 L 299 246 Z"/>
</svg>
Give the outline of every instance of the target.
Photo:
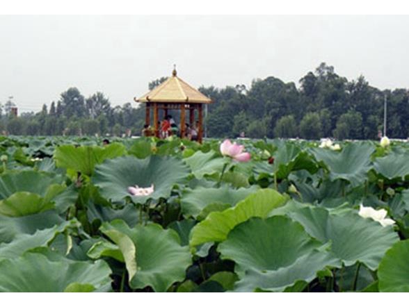
<svg viewBox="0 0 409 307">
<path fill-rule="evenodd" d="M 409 145 L 0 139 L 1 292 L 408 292 Z"/>
</svg>

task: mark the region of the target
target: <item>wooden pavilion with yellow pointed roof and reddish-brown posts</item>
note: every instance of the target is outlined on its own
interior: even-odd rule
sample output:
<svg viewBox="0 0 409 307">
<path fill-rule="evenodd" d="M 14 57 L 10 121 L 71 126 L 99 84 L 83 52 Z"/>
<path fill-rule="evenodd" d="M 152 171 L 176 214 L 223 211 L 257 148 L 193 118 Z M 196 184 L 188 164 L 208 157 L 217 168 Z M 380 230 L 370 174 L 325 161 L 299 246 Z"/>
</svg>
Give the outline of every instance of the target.
<svg viewBox="0 0 409 307">
<path fill-rule="evenodd" d="M 146 103 L 145 123 L 150 126 L 151 110 L 153 110 L 154 135 L 159 137 L 159 110 L 163 110 L 163 119 L 168 110 L 180 110 L 180 137 L 186 136 L 186 111 L 189 110 L 189 124 L 195 124 L 195 110 L 198 110 L 198 142 L 202 142 L 203 135 L 203 104 L 211 103 L 211 99 L 193 88 L 177 76 L 173 69 L 172 76 L 156 88 L 136 99 L 136 102 Z"/>
</svg>

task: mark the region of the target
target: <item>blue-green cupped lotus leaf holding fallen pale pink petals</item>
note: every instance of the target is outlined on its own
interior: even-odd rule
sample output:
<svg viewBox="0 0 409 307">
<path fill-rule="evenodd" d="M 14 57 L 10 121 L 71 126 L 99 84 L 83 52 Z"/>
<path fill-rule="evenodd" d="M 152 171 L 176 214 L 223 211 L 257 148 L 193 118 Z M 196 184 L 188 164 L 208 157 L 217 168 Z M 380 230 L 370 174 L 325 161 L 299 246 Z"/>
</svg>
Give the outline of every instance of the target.
<svg viewBox="0 0 409 307">
<path fill-rule="evenodd" d="M 95 185 L 106 199 L 120 202 L 126 197 L 143 204 L 147 199 L 170 197 L 173 185 L 182 183 L 189 174 L 189 169 L 181 160 L 170 156 L 150 156 L 140 160 L 133 156 L 106 160 L 95 168 Z M 129 186 L 138 185 L 148 188 L 154 185 L 154 192 L 149 196 L 131 196 Z"/>
</svg>

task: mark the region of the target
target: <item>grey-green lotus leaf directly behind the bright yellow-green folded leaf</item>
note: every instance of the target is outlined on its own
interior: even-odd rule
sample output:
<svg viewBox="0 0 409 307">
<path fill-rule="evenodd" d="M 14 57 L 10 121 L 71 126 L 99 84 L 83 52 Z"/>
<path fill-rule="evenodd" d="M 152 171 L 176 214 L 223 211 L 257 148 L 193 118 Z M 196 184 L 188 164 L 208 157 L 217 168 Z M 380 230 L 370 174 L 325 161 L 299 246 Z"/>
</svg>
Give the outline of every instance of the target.
<svg viewBox="0 0 409 307">
<path fill-rule="evenodd" d="M 198 187 L 194 190 L 186 190 L 182 196 L 182 213 L 186 216 L 198 217 L 198 215 L 207 206 L 230 205 L 234 206 L 239 201 L 245 199 L 249 194 L 255 192 L 257 187 L 252 185 L 250 188 L 232 189 L 228 186 L 220 188 Z"/>
</svg>

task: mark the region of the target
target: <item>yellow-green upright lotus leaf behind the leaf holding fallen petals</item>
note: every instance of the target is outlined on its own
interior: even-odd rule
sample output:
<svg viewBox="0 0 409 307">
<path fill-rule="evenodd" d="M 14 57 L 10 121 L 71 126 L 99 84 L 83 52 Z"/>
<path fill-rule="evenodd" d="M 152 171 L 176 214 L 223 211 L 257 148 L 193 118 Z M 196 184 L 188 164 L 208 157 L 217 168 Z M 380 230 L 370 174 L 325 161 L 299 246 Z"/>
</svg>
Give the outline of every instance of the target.
<svg viewBox="0 0 409 307">
<path fill-rule="evenodd" d="M 125 146 L 119 143 L 109 144 L 106 147 L 61 145 L 56 148 L 54 159 L 57 167 L 73 169 L 87 176 L 94 174 L 95 165 L 106 159 L 125 155 Z"/>
</svg>

